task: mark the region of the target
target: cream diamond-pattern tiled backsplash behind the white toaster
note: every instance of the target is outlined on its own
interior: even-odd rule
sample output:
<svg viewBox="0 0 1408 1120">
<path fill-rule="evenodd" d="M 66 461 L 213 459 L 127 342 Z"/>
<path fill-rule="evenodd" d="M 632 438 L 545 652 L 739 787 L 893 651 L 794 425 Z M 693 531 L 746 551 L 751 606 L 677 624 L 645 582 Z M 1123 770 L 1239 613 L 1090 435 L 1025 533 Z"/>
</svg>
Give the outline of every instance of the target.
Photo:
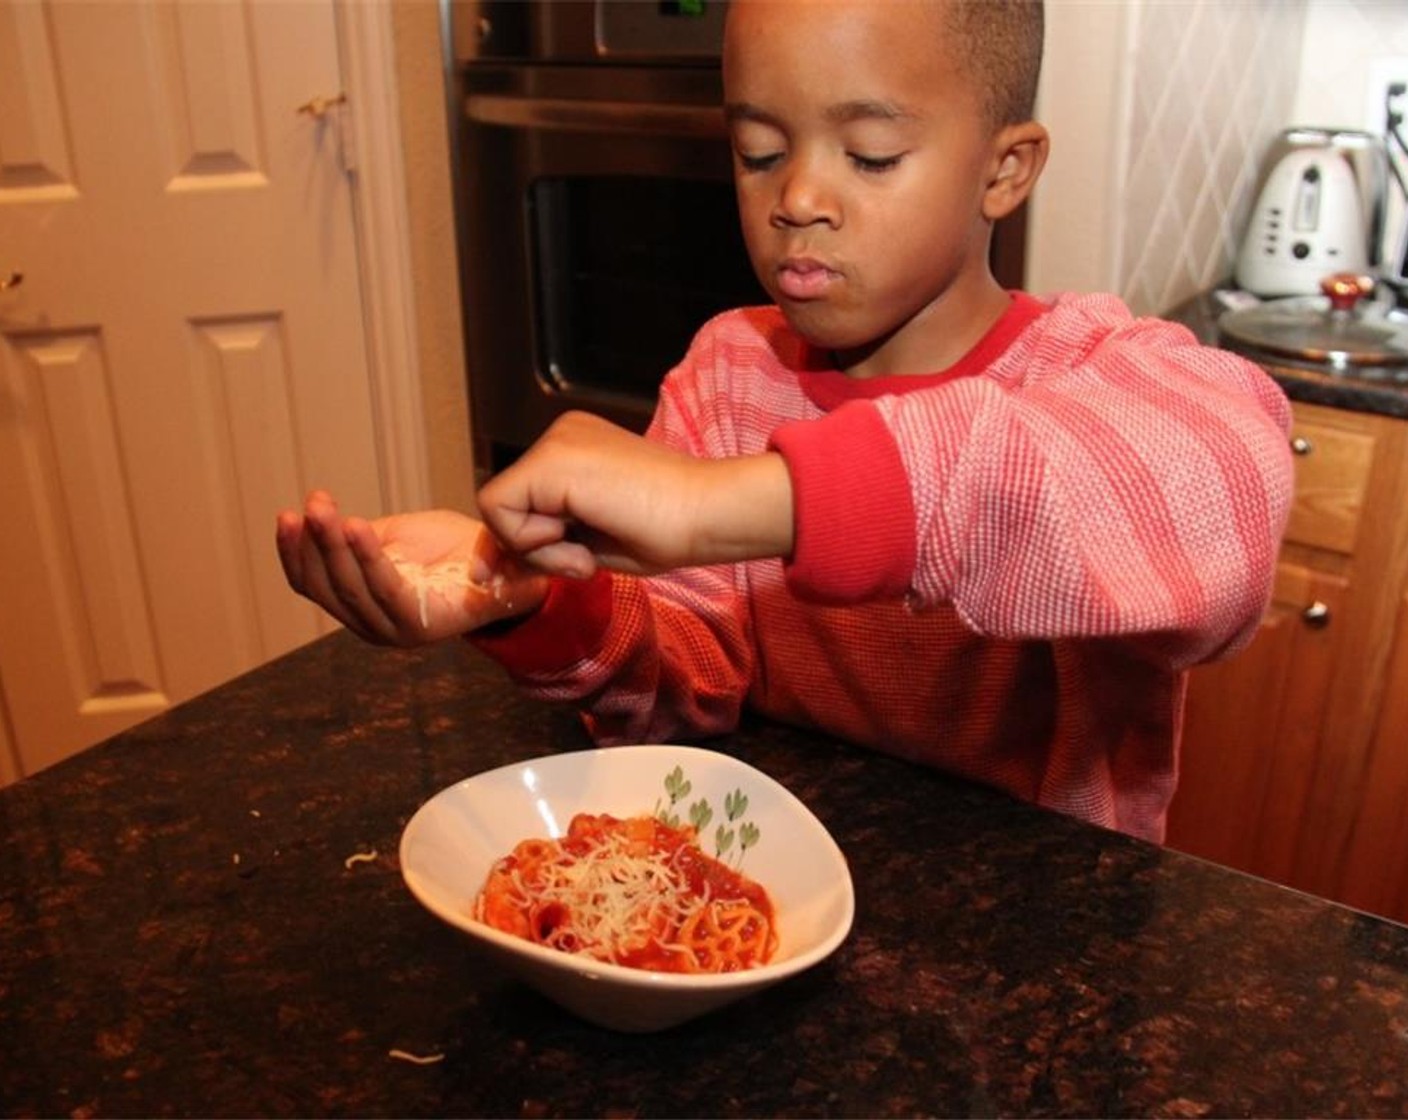
<svg viewBox="0 0 1408 1120">
<path fill-rule="evenodd" d="M 1131 6 L 1118 287 L 1157 314 L 1225 280 L 1276 134 L 1366 125 L 1369 68 L 1408 58 L 1408 0 Z"/>
</svg>

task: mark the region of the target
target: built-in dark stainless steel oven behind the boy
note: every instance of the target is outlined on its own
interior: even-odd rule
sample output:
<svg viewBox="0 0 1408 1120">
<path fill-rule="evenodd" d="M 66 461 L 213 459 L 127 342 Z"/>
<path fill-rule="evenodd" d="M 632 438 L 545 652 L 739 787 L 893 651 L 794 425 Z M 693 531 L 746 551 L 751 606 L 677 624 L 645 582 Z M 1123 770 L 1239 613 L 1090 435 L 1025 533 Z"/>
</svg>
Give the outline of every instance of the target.
<svg viewBox="0 0 1408 1120">
<path fill-rule="evenodd" d="M 641 430 L 717 311 L 766 299 L 734 203 L 724 0 L 444 0 L 476 459 L 559 413 Z M 1021 228 L 994 247 L 1021 283 Z"/>
</svg>

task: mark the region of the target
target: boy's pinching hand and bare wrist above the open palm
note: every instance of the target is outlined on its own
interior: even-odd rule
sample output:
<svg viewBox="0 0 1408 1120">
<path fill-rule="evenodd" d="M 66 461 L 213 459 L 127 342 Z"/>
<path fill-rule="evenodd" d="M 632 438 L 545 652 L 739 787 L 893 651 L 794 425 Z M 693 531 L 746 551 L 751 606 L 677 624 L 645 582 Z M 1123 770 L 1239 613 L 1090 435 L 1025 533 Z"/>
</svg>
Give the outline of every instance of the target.
<svg viewBox="0 0 1408 1120">
<path fill-rule="evenodd" d="M 700 459 L 587 413 L 559 417 L 479 493 L 498 538 L 539 568 L 649 573 L 786 556 L 791 479 L 773 452 Z"/>
</svg>

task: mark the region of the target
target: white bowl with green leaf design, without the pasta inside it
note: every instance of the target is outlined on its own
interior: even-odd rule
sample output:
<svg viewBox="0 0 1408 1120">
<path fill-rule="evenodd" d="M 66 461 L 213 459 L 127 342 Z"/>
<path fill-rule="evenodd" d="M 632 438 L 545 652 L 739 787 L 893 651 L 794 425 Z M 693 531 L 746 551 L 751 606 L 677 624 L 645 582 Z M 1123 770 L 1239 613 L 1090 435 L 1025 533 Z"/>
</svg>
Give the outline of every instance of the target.
<svg viewBox="0 0 1408 1120">
<path fill-rule="evenodd" d="M 746 809 L 728 820 L 725 797 L 738 810 L 736 792 Z M 518 841 L 560 837 L 576 813 L 663 810 L 689 823 L 700 803 L 711 810 L 700 847 L 715 855 L 719 828 L 732 833 L 724 858 L 772 897 L 779 945 L 766 965 L 718 975 L 648 972 L 535 945 L 473 919 L 490 865 Z M 746 834 L 756 840 L 745 850 L 741 837 L 749 824 Z M 621 1031 L 673 1027 L 793 976 L 825 959 L 855 916 L 846 859 L 807 806 L 752 766 L 696 747 L 577 751 L 466 778 L 411 817 L 401 835 L 401 873 L 421 904 L 474 938 L 507 972 L 583 1019 Z"/>
</svg>

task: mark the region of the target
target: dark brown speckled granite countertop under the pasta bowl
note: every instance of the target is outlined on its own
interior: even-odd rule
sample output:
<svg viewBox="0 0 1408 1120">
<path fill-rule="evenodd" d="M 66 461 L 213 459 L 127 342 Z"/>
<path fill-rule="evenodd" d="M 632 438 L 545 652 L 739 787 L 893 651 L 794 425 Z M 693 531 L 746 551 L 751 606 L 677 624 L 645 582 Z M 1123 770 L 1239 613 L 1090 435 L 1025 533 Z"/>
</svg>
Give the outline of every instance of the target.
<svg viewBox="0 0 1408 1120">
<path fill-rule="evenodd" d="M 0 790 L 0 1112 L 1408 1113 L 1408 928 L 756 720 L 710 745 L 832 831 L 849 940 L 663 1034 L 587 1026 L 396 858 L 439 789 L 587 745 L 463 644 L 335 634 Z"/>
</svg>

